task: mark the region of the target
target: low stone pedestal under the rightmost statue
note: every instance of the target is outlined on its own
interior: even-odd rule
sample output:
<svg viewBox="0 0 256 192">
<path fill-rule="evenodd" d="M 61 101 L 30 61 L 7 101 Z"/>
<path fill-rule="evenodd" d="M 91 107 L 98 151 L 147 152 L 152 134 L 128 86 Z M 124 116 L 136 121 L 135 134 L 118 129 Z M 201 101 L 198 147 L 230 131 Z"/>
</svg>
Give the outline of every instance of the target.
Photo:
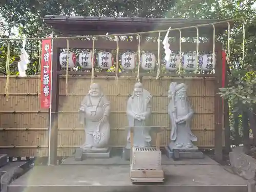
<svg viewBox="0 0 256 192">
<path fill-rule="evenodd" d="M 174 151 L 179 152 L 178 157 L 174 157 Z M 194 146 L 191 148 L 170 148 L 168 146 L 165 146 L 165 154 L 166 156 L 174 159 L 179 159 L 179 158 L 185 158 L 185 159 L 203 159 L 204 154 L 198 150 L 198 147 Z"/>
</svg>

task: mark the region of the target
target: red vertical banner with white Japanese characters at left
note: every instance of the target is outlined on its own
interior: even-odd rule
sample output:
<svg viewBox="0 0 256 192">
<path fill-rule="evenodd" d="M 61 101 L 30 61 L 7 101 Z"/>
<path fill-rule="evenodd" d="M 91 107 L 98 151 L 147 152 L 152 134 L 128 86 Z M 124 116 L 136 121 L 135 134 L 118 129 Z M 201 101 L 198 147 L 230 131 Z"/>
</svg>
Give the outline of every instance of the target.
<svg viewBox="0 0 256 192">
<path fill-rule="evenodd" d="M 50 38 L 50 37 L 49 37 Z M 42 40 L 41 55 L 41 108 L 50 108 L 51 99 L 51 70 L 52 70 L 52 40 Z"/>
</svg>

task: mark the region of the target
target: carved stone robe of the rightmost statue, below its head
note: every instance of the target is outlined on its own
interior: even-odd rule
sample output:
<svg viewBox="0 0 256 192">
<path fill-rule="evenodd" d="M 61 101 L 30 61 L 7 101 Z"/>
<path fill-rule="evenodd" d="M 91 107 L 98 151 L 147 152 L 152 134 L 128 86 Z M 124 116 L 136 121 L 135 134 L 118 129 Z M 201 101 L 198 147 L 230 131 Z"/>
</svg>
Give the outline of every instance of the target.
<svg viewBox="0 0 256 192">
<path fill-rule="evenodd" d="M 172 120 L 172 132 L 170 134 L 170 139 L 172 142 L 170 142 L 169 147 L 172 149 L 177 144 L 182 144 L 183 148 L 188 144 L 194 146 L 192 142 L 197 141 L 197 137 L 191 132 L 190 129 L 191 118 L 194 112 L 191 109 L 187 99 L 181 100 L 180 98 L 176 98 L 175 104 L 177 119 L 185 118 L 185 121 L 179 124 Z M 169 103 L 168 114 L 171 116 L 173 113 L 175 112 L 173 111 L 171 103 Z"/>
</svg>

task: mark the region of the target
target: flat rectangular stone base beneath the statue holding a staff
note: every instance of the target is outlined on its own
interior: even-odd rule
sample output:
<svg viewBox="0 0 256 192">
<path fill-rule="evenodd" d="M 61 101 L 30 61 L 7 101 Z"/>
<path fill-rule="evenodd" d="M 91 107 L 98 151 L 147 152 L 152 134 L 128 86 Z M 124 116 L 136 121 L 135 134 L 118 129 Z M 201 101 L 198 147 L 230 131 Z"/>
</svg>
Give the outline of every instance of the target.
<svg viewBox="0 0 256 192">
<path fill-rule="evenodd" d="M 184 158 L 184 159 L 203 159 L 204 158 L 204 154 L 200 151 L 184 151 L 181 150 L 179 151 L 179 149 L 174 149 L 176 151 L 179 152 L 179 158 Z M 165 154 L 166 156 L 170 159 L 170 158 L 174 158 L 174 152 L 170 151 L 169 147 L 165 147 Z M 177 158 L 175 158 L 177 159 Z"/>
</svg>

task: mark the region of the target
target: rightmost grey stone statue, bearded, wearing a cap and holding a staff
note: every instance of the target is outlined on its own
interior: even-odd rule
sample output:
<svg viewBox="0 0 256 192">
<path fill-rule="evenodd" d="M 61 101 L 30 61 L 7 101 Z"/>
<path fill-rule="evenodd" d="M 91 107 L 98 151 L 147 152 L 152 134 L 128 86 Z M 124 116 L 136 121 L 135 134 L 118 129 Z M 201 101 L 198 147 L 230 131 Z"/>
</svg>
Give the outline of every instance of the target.
<svg viewBox="0 0 256 192">
<path fill-rule="evenodd" d="M 193 141 L 197 141 L 197 137 L 191 132 L 191 118 L 193 110 L 187 100 L 186 85 L 177 82 L 170 83 L 168 98 L 171 98 L 168 105 L 168 114 L 172 123 L 172 132 L 170 134 L 171 142 L 169 143 L 170 150 L 183 149 L 190 151 L 194 146 Z"/>
</svg>

